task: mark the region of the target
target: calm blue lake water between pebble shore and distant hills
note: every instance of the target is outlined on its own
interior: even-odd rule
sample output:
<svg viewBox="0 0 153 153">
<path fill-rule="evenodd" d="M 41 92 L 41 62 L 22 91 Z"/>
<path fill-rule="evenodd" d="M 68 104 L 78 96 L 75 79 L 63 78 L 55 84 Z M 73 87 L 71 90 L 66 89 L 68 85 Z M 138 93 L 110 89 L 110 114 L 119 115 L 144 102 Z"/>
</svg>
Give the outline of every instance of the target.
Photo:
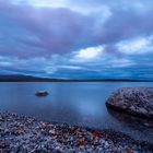
<svg viewBox="0 0 153 153">
<path fill-rule="evenodd" d="M 153 83 L 0 83 L 0 109 L 50 121 L 111 128 L 153 142 L 153 129 L 142 126 L 139 120 L 126 120 L 122 115 L 120 118 L 105 107 L 111 92 L 127 86 L 153 87 Z M 48 91 L 49 96 L 35 96 L 39 90 Z"/>
</svg>

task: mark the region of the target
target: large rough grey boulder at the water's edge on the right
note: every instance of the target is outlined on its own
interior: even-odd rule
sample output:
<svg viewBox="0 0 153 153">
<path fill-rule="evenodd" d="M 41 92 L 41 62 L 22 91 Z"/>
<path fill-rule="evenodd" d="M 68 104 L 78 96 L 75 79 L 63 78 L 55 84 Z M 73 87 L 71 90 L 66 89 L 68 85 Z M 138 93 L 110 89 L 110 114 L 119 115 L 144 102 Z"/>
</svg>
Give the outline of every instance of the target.
<svg viewBox="0 0 153 153">
<path fill-rule="evenodd" d="M 153 119 L 153 87 L 123 87 L 106 101 L 106 106 Z"/>
</svg>

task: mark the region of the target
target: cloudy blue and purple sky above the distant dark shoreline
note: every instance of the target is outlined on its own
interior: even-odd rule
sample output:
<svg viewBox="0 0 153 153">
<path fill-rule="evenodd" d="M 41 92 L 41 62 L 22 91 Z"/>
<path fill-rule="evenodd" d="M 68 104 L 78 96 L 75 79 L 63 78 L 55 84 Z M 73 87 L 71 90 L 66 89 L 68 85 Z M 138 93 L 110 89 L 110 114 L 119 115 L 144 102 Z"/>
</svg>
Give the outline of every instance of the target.
<svg viewBox="0 0 153 153">
<path fill-rule="evenodd" d="M 152 0 L 0 0 L 0 74 L 153 78 Z"/>
</svg>

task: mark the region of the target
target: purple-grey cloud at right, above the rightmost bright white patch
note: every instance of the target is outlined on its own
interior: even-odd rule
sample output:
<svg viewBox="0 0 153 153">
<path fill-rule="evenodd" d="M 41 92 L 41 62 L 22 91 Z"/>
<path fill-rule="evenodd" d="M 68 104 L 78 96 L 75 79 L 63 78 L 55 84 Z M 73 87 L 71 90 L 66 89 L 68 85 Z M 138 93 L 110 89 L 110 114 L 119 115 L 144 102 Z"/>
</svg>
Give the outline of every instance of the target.
<svg viewBox="0 0 153 153">
<path fill-rule="evenodd" d="M 96 36 L 102 43 L 116 44 L 123 39 L 152 35 L 153 22 L 150 19 L 152 11 L 142 13 L 136 10 L 117 10 L 97 32 L 99 36 Z"/>
</svg>

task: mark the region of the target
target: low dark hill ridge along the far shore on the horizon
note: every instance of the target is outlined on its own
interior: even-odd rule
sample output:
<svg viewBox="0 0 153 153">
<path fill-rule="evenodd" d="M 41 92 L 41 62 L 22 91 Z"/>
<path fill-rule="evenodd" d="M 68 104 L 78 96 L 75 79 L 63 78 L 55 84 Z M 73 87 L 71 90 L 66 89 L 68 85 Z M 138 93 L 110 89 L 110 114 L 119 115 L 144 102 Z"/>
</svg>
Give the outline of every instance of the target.
<svg viewBox="0 0 153 153">
<path fill-rule="evenodd" d="M 131 79 L 49 79 L 32 75 L 10 74 L 0 75 L 0 82 L 152 82 L 151 80 Z"/>
</svg>

